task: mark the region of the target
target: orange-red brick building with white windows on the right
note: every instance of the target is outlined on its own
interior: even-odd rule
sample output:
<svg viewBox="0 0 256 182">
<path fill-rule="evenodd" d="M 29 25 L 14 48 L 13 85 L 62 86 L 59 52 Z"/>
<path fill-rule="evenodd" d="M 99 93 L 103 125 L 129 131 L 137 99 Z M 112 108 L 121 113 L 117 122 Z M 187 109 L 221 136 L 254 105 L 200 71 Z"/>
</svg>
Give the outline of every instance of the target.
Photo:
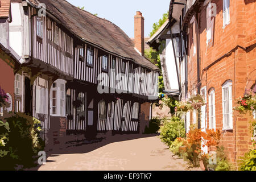
<svg viewBox="0 0 256 182">
<path fill-rule="evenodd" d="M 158 40 L 172 40 L 175 55 L 170 61 L 179 64 L 180 82 L 185 77 L 180 85 L 185 92 L 180 90 L 179 98 L 204 96 L 207 105 L 201 109 L 198 126 L 221 131 L 221 145 L 236 166 L 252 147 L 253 116 L 238 115 L 233 107 L 246 89 L 256 92 L 255 6 L 253 0 L 172 0 L 169 26 L 154 35 Z M 156 43 L 150 42 L 153 47 Z M 198 118 L 196 111 L 187 114 L 187 131 Z M 208 148 L 203 150 L 208 152 Z"/>
</svg>

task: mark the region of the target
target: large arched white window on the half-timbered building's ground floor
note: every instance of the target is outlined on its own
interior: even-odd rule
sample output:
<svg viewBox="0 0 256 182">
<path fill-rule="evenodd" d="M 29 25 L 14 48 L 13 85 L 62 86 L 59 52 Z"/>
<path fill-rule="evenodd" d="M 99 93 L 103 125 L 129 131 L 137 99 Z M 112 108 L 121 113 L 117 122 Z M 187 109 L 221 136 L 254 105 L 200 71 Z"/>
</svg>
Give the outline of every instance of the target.
<svg viewBox="0 0 256 182">
<path fill-rule="evenodd" d="M 65 80 L 58 79 L 53 82 L 50 92 L 51 115 L 65 117 Z"/>
</svg>

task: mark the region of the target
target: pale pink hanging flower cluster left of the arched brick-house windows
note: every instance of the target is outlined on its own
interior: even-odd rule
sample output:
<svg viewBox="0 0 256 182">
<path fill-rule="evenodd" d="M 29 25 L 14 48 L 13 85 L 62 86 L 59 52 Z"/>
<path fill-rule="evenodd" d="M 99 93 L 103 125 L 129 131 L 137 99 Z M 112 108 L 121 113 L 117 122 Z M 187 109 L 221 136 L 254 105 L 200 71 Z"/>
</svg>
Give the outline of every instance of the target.
<svg viewBox="0 0 256 182">
<path fill-rule="evenodd" d="M 176 101 L 175 112 L 184 112 L 187 113 L 189 110 L 199 110 L 201 106 L 205 105 L 203 96 L 196 95 L 192 96 L 187 102 L 178 102 Z"/>
</svg>

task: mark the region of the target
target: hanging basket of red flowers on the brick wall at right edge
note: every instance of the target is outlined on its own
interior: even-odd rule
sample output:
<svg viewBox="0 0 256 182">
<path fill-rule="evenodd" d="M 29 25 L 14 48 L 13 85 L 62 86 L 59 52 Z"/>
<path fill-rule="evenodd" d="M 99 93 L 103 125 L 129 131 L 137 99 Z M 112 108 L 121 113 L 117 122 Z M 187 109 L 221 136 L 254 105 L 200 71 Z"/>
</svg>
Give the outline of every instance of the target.
<svg viewBox="0 0 256 182">
<path fill-rule="evenodd" d="M 253 92 L 246 93 L 243 97 L 237 99 L 237 106 L 234 107 L 240 114 L 245 114 L 247 111 L 256 110 L 256 95 Z"/>
</svg>

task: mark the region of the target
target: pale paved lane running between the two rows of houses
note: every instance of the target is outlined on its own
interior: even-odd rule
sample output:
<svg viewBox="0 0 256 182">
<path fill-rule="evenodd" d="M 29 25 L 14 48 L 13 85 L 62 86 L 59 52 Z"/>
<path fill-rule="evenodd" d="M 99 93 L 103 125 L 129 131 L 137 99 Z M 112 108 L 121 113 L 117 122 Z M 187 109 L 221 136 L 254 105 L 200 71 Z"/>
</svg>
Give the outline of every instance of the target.
<svg viewBox="0 0 256 182">
<path fill-rule="evenodd" d="M 167 146 L 159 137 L 141 135 L 114 136 L 112 143 L 84 144 L 68 150 L 56 152 L 47 158 L 47 164 L 39 170 L 79 170 L 79 171 L 181 171 L 187 169 L 183 159 L 173 157 Z M 123 139 L 122 139 L 123 138 Z M 123 141 L 118 141 L 123 140 Z M 118 141 L 118 142 L 115 142 Z"/>
</svg>

